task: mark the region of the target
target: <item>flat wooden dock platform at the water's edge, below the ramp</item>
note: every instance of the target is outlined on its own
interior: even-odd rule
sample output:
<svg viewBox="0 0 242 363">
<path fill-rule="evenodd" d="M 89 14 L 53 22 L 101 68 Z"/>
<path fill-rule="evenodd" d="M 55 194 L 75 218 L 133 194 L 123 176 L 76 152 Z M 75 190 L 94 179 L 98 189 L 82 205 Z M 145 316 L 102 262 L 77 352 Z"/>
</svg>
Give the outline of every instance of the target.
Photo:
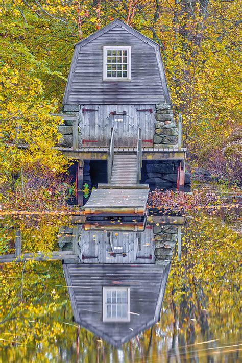
<svg viewBox="0 0 242 363">
<path fill-rule="evenodd" d="M 86 216 L 144 215 L 146 213 L 149 186 L 139 184 L 138 188 L 107 185 L 94 189 L 85 206 Z M 142 188 L 141 188 L 142 187 Z"/>
</svg>

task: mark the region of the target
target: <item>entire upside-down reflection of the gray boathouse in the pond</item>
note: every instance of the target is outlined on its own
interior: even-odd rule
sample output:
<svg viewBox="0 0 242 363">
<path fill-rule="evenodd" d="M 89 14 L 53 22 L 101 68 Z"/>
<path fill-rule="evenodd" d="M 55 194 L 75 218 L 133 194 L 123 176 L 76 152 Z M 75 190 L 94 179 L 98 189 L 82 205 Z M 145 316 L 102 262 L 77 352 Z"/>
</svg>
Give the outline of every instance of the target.
<svg viewBox="0 0 242 363">
<path fill-rule="evenodd" d="M 80 262 L 63 265 L 74 319 L 118 347 L 159 321 L 180 227 L 86 226 L 78 243 Z"/>
</svg>

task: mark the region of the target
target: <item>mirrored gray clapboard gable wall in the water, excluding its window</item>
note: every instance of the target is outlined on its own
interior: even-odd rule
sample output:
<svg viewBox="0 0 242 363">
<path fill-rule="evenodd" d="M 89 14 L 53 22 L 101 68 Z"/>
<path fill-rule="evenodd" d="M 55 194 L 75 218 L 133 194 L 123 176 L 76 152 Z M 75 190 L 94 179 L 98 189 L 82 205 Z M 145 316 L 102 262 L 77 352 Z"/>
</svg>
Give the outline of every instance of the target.
<svg viewBox="0 0 242 363">
<path fill-rule="evenodd" d="M 159 320 L 170 264 L 63 265 L 74 319 L 119 346 Z M 130 287 L 130 322 L 103 322 L 103 286 Z"/>
</svg>

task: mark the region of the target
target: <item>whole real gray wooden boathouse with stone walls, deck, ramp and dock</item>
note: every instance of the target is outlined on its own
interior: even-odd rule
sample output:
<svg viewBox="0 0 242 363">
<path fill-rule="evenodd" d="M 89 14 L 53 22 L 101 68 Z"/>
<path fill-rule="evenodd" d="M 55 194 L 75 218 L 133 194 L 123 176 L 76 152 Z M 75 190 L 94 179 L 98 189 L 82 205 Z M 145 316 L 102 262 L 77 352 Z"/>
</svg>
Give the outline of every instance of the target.
<svg viewBox="0 0 242 363">
<path fill-rule="evenodd" d="M 63 120 L 58 149 L 78 160 L 79 205 L 84 162 L 107 160 L 108 185 L 92 192 L 85 206 L 88 215 L 144 214 L 147 184 L 168 183 L 174 175 L 183 188 L 181 117 L 177 126 L 160 47 L 123 21 L 116 19 L 75 44 L 58 116 Z M 142 162 L 149 163 L 146 185 L 139 184 Z M 137 198 L 142 202 L 136 206 L 131 200 Z"/>
</svg>

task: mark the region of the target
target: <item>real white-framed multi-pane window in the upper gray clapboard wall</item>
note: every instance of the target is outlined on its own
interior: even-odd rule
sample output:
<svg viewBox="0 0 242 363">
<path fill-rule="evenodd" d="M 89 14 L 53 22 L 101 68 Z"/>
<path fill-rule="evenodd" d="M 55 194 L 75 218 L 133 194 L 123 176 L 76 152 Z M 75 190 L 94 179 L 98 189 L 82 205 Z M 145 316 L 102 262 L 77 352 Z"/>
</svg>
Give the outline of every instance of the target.
<svg viewBox="0 0 242 363">
<path fill-rule="evenodd" d="M 103 80 L 131 80 L 131 46 L 103 47 Z"/>
</svg>

